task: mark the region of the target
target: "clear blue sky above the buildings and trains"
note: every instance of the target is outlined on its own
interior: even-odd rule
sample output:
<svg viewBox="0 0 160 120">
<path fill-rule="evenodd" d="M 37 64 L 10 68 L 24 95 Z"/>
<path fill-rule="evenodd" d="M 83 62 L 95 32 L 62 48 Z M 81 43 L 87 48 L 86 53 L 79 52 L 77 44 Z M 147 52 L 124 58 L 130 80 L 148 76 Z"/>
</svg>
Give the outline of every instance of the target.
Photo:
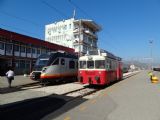
<svg viewBox="0 0 160 120">
<path fill-rule="evenodd" d="M 153 40 L 154 61 L 160 61 L 160 0 L 71 1 L 0 0 L 0 27 L 44 39 L 44 26 L 70 18 L 76 7 L 77 19 L 93 19 L 102 26 L 100 48 L 123 59 L 142 60 L 150 57 Z"/>
</svg>

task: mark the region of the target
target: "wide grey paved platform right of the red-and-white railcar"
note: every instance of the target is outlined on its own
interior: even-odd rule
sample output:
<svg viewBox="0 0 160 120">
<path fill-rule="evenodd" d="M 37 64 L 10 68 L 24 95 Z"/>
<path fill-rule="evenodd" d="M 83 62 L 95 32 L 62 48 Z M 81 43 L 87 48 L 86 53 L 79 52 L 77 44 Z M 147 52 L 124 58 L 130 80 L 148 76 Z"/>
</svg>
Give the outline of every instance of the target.
<svg viewBox="0 0 160 120">
<path fill-rule="evenodd" d="M 155 72 L 160 78 L 160 73 Z M 67 103 L 43 120 L 160 120 L 160 83 L 143 71 L 110 87 L 72 109 Z"/>
</svg>

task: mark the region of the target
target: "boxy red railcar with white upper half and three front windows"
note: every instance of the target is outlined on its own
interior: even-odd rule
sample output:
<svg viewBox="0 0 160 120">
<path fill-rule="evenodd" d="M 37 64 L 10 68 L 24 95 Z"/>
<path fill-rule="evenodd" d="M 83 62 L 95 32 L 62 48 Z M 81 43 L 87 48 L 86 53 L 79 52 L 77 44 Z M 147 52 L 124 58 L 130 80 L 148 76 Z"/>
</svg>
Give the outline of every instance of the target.
<svg viewBox="0 0 160 120">
<path fill-rule="evenodd" d="M 91 50 L 79 58 L 78 80 L 82 84 L 108 85 L 122 78 L 122 59 L 106 50 Z"/>
</svg>

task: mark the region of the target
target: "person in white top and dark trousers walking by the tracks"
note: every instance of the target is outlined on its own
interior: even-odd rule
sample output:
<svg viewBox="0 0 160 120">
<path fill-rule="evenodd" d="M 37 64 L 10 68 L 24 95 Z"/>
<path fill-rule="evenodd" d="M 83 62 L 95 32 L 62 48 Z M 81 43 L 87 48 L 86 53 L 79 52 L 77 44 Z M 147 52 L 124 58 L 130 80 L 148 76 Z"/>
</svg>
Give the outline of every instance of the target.
<svg viewBox="0 0 160 120">
<path fill-rule="evenodd" d="M 6 76 L 8 79 L 8 87 L 11 88 L 12 80 L 14 80 L 14 71 L 11 67 L 9 67 L 9 71 L 6 72 Z"/>
</svg>

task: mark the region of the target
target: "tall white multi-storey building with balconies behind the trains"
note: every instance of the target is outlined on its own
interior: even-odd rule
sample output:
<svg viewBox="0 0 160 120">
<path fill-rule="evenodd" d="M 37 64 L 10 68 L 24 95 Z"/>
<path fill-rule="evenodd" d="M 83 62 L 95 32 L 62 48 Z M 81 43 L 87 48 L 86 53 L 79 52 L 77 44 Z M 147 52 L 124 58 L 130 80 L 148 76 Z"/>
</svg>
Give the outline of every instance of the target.
<svg viewBox="0 0 160 120">
<path fill-rule="evenodd" d="M 101 27 L 92 20 L 71 18 L 46 25 L 45 41 L 85 54 L 88 50 L 97 48 L 97 32 L 100 30 Z"/>
</svg>

